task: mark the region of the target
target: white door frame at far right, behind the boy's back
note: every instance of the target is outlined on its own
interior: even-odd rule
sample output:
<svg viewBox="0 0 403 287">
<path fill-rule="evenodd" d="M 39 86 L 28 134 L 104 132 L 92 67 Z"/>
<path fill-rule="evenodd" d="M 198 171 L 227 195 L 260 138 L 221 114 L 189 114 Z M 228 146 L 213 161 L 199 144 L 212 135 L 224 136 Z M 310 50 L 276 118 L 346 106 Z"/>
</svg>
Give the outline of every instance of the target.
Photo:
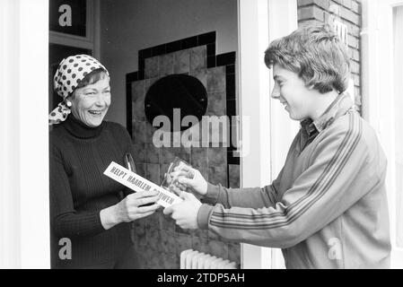
<svg viewBox="0 0 403 287">
<path fill-rule="evenodd" d="M 386 184 L 390 208 L 391 266 L 403 268 L 396 245 L 395 112 L 393 8 L 402 0 L 364 0 L 362 37 L 363 117 L 375 128 L 388 158 Z M 403 176 L 403 175 L 399 175 Z M 399 220 L 399 223 L 401 220 Z M 401 224 L 401 223 L 400 223 Z"/>
</svg>

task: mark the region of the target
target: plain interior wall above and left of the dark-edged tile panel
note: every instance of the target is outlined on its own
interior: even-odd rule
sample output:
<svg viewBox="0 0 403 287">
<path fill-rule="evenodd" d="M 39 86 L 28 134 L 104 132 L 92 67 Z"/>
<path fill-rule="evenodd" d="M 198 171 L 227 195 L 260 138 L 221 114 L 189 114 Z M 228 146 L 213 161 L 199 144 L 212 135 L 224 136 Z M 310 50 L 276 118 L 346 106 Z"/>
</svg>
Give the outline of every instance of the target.
<svg viewBox="0 0 403 287">
<path fill-rule="evenodd" d="M 126 126 L 127 73 L 138 70 L 137 51 L 216 31 L 216 53 L 236 51 L 237 0 L 102 0 L 101 62 L 111 75 L 107 120 Z"/>
</svg>

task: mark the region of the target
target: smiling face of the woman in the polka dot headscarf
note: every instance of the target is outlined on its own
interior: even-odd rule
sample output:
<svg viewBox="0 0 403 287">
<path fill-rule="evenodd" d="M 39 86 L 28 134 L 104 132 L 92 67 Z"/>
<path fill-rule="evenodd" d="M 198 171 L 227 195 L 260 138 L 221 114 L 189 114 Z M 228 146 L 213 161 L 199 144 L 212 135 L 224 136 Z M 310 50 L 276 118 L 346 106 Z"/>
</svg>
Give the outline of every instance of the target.
<svg viewBox="0 0 403 287">
<path fill-rule="evenodd" d="M 74 91 L 72 113 L 87 126 L 100 126 L 110 108 L 110 79 L 104 76 L 97 83 L 92 83 Z"/>
</svg>

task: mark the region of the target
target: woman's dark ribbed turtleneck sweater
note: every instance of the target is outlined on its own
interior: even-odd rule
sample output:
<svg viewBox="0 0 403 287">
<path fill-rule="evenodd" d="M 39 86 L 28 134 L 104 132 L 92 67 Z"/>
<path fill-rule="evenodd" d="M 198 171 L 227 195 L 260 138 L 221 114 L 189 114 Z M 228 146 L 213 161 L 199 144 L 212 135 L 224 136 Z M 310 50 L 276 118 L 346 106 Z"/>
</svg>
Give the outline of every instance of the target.
<svg viewBox="0 0 403 287">
<path fill-rule="evenodd" d="M 75 268 L 117 260 L 130 248 L 128 223 L 110 230 L 101 224 L 102 209 L 118 204 L 127 192 L 103 175 L 111 161 L 124 166 L 126 152 L 133 154 L 127 130 L 116 123 L 89 127 L 73 115 L 49 133 L 50 225 L 52 268 Z M 59 240 L 72 243 L 72 259 L 58 256 Z"/>
</svg>

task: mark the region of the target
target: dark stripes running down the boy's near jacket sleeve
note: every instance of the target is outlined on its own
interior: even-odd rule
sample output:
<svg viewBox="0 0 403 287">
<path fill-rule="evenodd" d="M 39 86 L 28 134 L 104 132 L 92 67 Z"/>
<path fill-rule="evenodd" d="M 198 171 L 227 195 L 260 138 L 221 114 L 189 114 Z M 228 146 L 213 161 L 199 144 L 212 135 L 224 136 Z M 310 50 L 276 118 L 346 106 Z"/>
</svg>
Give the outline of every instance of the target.
<svg viewBox="0 0 403 287">
<path fill-rule="evenodd" d="M 349 114 L 349 130 L 345 139 L 340 144 L 337 152 L 329 162 L 327 168 L 322 172 L 320 178 L 311 187 L 307 195 L 285 208 L 284 212 L 270 214 L 233 214 L 233 213 L 213 213 L 210 224 L 228 228 L 242 229 L 267 229 L 288 225 L 299 218 L 312 204 L 315 204 L 323 196 L 329 187 L 336 180 L 338 174 L 343 170 L 346 162 L 354 152 L 362 134 L 362 124 L 355 117 Z M 262 222 L 256 222 L 259 218 Z M 225 221 L 225 222 L 223 222 Z M 241 222 L 240 222 L 241 221 Z"/>
</svg>

